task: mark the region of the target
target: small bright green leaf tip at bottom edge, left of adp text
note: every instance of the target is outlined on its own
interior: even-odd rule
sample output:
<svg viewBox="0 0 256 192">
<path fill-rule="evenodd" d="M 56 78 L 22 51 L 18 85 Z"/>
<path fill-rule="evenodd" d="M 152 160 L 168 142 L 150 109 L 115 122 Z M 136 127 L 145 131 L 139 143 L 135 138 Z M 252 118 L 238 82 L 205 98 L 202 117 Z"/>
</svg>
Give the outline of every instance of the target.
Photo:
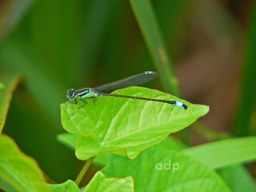
<svg viewBox="0 0 256 192">
<path fill-rule="evenodd" d="M 106 178 L 102 172 L 97 172 L 86 186 L 86 191 L 134 191 L 132 177 Z"/>
</svg>

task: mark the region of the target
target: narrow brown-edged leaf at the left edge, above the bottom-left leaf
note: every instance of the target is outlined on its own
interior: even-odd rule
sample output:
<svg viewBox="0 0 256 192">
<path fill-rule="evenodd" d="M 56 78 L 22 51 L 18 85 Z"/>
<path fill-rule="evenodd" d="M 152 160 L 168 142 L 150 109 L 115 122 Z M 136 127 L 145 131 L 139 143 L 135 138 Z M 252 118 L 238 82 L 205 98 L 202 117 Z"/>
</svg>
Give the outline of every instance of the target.
<svg viewBox="0 0 256 192">
<path fill-rule="evenodd" d="M 6 74 L 0 77 L 0 134 L 3 130 L 12 94 L 17 87 L 21 77 L 17 74 Z"/>
</svg>

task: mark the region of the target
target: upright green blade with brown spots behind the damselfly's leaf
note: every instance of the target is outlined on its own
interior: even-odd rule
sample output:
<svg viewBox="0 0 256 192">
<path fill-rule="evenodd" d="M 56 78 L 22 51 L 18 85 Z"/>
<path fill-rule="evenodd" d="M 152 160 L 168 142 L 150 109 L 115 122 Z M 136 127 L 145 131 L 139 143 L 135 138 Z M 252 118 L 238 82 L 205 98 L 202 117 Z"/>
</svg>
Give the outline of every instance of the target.
<svg viewBox="0 0 256 192">
<path fill-rule="evenodd" d="M 130 0 L 132 10 L 141 33 L 145 39 L 148 51 L 152 56 L 152 60 L 159 72 L 159 76 L 167 93 L 179 97 L 180 90 L 178 87 L 178 80 L 172 70 L 172 61 L 166 51 L 163 36 L 159 28 L 156 13 L 152 7 L 151 1 L 148 0 Z"/>
</svg>

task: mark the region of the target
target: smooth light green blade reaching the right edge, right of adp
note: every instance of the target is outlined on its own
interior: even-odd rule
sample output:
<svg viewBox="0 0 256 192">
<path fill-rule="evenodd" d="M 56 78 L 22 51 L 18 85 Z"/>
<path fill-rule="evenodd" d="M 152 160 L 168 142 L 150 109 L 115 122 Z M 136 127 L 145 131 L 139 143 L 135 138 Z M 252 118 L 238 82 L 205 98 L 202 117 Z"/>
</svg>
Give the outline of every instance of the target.
<svg viewBox="0 0 256 192">
<path fill-rule="evenodd" d="M 248 163 L 256 159 L 256 137 L 233 138 L 198 145 L 183 150 L 211 168 Z"/>
</svg>

